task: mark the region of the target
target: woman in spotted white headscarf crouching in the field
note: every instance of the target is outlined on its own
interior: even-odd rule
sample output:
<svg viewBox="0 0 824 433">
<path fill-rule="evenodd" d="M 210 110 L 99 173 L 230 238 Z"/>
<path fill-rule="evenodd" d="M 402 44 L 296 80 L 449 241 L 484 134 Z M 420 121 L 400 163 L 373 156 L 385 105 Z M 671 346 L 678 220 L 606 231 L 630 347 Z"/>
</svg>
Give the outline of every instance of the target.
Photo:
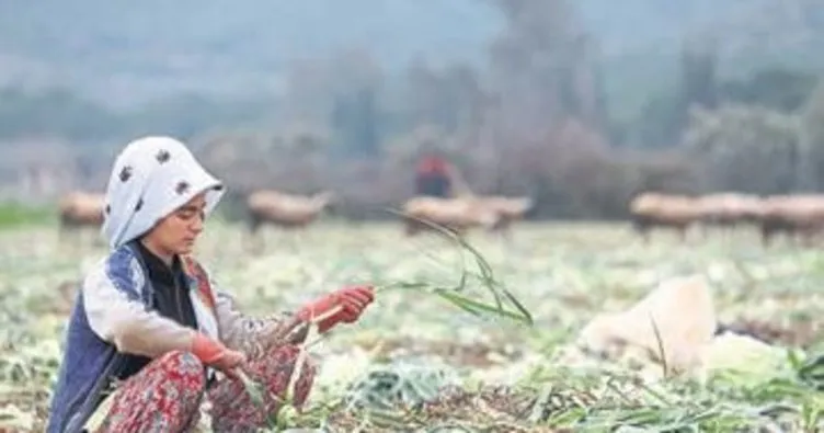
<svg viewBox="0 0 824 433">
<path fill-rule="evenodd" d="M 348 287 L 295 314 L 240 314 L 190 257 L 222 190 L 172 138 L 133 141 L 117 157 L 103 225 L 112 251 L 79 290 L 48 432 L 84 431 L 98 409 L 104 421 L 96 431 L 190 431 L 205 397 L 215 431 L 254 431 L 279 403 L 267 398 L 265 410 L 255 407 L 236 369 L 283 398 L 307 327 L 289 331 L 321 315 L 320 332 L 352 323 L 373 301 L 371 287 Z M 300 368 L 298 408 L 314 374 L 309 363 Z"/>
</svg>

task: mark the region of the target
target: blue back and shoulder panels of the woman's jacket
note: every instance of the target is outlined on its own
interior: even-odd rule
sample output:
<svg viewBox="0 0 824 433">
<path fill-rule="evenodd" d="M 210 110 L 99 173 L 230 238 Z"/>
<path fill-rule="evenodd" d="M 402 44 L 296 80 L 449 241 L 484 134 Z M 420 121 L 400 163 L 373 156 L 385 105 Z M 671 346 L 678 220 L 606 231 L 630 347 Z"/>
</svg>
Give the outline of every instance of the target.
<svg viewBox="0 0 824 433">
<path fill-rule="evenodd" d="M 99 265 L 112 285 L 131 300 L 153 308 L 153 288 L 136 246 L 127 243 Z M 187 277 L 190 283 L 196 283 Z M 190 284 L 192 287 L 192 284 Z M 64 341 L 64 358 L 52 398 L 47 433 L 79 433 L 110 388 L 112 378 L 145 364 L 142 356 L 118 352 L 89 326 L 83 293 L 78 290 Z"/>
</svg>

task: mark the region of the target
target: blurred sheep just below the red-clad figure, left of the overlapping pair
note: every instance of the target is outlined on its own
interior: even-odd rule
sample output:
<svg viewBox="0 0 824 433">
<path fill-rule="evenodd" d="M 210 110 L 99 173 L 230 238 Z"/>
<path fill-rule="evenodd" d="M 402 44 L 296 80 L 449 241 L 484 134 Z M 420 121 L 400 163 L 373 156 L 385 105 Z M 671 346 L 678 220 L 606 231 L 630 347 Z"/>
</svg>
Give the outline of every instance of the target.
<svg viewBox="0 0 824 433">
<path fill-rule="evenodd" d="M 500 214 L 476 197 L 442 198 L 416 196 L 402 206 L 407 236 L 414 236 L 425 227 L 420 220 L 444 226 L 458 233 L 471 227 L 492 229 Z"/>
</svg>

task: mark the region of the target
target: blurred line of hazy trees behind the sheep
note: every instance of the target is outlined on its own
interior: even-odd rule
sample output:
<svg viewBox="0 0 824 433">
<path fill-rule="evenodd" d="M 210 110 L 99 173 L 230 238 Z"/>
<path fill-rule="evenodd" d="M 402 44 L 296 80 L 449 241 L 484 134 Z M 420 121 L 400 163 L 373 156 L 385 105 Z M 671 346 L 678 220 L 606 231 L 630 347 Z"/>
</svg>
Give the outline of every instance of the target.
<svg viewBox="0 0 824 433">
<path fill-rule="evenodd" d="M 334 186 L 357 204 L 411 194 L 421 151 L 450 155 L 479 192 L 529 194 L 536 215 L 626 216 L 644 190 L 762 194 L 824 185 L 824 91 L 815 70 L 719 73 L 712 41 L 685 36 L 676 86 L 621 116 L 598 42 L 571 2 L 494 0 L 505 25 L 484 68 L 416 58 L 389 73 L 368 49 L 296 61 L 286 93 L 181 95 L 116 111 L 69 90 L 0 92 L 0 139 L 58 137 L 91 158 L 142 134 L 193 143 L 239 194 Z M 96 153 L 95 153 L 96 152 Z M 81 157 L 78 157 L 81 158 Z M 88 170 L 94 172 L 95 170 Z M 99 175 L 99 174 L 98 174 Z"/>
</svg>

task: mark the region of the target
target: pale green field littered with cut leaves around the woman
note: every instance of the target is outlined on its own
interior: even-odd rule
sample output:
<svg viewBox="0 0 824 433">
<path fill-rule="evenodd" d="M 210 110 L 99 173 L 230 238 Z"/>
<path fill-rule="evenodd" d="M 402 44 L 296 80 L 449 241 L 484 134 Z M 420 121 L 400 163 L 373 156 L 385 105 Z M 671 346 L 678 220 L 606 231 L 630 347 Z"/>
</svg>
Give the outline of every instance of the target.
<svg viewBox="0 0 824 433">
<path fill-rule="evenodd" d="M 330 223 L 302 235 L 270 230 L 266 238 L 266 251 L 250 254 L 238 227 L 213 224 L 198 246 L 218 283 L 252 315 L 297 308 L 346 283 L 450 287 L 464 264 L 478 272 L 474 258 L 447 239 L 408 240 L 392 224 Z M 661 233 L 644 246 L 626 225 L 596 224 L 524 224 L 511 242 L 482 233 L 468 241 L 534 324 L 492 312 L 476 317 L 424 290 L 381 292 L 359 322 L 311 346 L 322 369 L 308 411 L 289 424 L 432 432 L 824 425 L 817 375 L 801 368 L 814 364 L 821 346 L 824 261 L 816 250 L 766 250 L 747 232 L 688 244 Z M 43 431 L 72 283 L 104 250 L 58 244 L 45 225 L 0 232 L 0 431 Z M 663 378 L 659 365 L 607 362 L 574 349 L 594 315 L 628 307 L 661 281 L 691 273 L 710 278 L 720 320 L 775 346 L 766 368 L 707 380 Z M 474 299 L 494 305 L 478 280 L 466 285 Z"/>
</svg>

